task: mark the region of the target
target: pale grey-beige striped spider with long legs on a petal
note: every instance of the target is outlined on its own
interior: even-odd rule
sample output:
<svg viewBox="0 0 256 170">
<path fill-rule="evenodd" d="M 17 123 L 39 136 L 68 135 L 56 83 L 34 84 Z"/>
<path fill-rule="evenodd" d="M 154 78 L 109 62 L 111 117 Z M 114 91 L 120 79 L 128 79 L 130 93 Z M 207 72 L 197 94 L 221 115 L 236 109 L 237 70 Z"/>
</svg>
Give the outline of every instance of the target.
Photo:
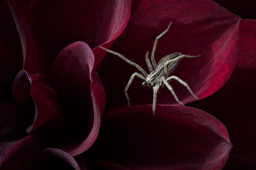
<svg viewBox="0 0 256 170">
<path fill-rule="evenodd" d="M 177 102 L 179 102 L 182 106 L 185 106 L 182 102 L 180 102 L 176 96 L 176 94 L 174 93 L 172 87 L 168 84 L 168 82 L 170 82 L 170 80 L 174 79 L 177 80 L 178 82 L 180 82 L 183 86 L 185 86 L 188 91 L 190 92 L 190 94 L 192 94 L 192 96 L 194 96 L 194 98 L 196 98 L 198 100 L 198 98 L 194 95 L 194 93 L 192 92 L 192 90 L 190 89 L 190 87 L 188 86 L 188 84 L 184 81 L 182 81 L 180 78 L 176 77 L 176 76 L 170 76 L 170 73 L 174 71 L 174 69 L 176 68 L 176 66 L 178 65 L 178 62 L 180 61 L 180 59 L 186 57 L 186 58 L 195 58 L 195 57 L 200 57 L 201 55 L 197 55 L 197 56 L 190 56 L 190 55 L 183 55 L 182 53 L 172 53 L 169 55 L 166 55 L 165 57 L 163 57 L 158 64 L 156 64 L 156 60 L 154 58 L 155 52 L 156 52 L 156 45 L 158 43 L 158 39 L 160 39 L 170 28 L 172 22 L 168 25 L 167 29 L 162 32 L 160 35 L 158 35 L 158 37 L 156 37 L 155 42 L 154 42 L 154 47 L 151 53 L 151 62 L 152 65 L 150 63 L 150 60 L 148 59 L 148 52 L 146 53 L 145 59 L 146 59 L 146 63 L 148 65 L 148 69 L 150 71 L 150 74 L 147 74 L 146 71 L 141 68 L 138 64 L 126 59 L 123 55 L 116 53 L 114 51 L 105 49 L 104 47 L 99 46 L 101 49 L 107 51 L 108 53 L 111 53 L 113 55 L 117 55 L 118 57 L 120 57 L 121 59 L 123 59 L 124 61 L 126 61 L 128 64 L 131 64 L 132 66 L 135 66 L 140 72 L 134 72 L 132 74 L 132 76 L 130 77 L 130 80 L 128 82 L 128 84 L 126 85 L 126 88 L 124 89 L 124 93 L 126 96 L 126 99 L 128 101 L 128 106 L 130 107 L 130 100 L 128 97 L 128 89 L 134 79 L 135 76 L 137 76 L 138 78 L 144 80 L 144 82 L 142 83 L 142 86 L 147 87 L 147 88 L 152 88 L 153 87 L 153 108 L 152 108 L 152 112 L 153 115 L 155 115 L 155 111 L 156 111 L 156 94 L 157 91 L 160 87 L 163 87 L 164 85 L 170 90 L 170 92 L 172 92 L 172 95 L 174 96 L 175 100 Z M 154 68 L 154 69 L 153 69 Z"/>
</svg>

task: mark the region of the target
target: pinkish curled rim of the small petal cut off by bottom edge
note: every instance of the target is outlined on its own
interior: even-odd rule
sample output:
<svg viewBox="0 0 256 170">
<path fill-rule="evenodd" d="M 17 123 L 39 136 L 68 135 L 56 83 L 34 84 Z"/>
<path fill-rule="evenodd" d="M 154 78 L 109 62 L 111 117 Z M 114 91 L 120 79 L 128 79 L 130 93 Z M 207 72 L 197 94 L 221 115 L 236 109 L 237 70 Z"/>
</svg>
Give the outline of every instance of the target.
<svg viewBox="0 0 256 170">
<path fill-rule="evenodd" d="M 76 160 L 68 153 L 64 152 L 63 150 L 56 149 L 56 148 L 47 148 L 44 150 L 45 154 L 52 154 L 70 164 L 75 170 L 80 170 Z"/>
</svg>

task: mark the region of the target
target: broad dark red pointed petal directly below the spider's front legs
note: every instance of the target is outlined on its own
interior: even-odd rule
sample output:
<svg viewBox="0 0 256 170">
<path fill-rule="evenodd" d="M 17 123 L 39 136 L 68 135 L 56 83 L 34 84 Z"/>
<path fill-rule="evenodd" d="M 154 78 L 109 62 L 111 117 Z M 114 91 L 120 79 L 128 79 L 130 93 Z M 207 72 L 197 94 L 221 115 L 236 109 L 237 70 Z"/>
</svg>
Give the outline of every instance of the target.
<svg viewBox="0 0 256 170">
<path fill-rule="evenodd" d="M 220 121 L 191 107 L 158 105 L 157 109 L 156 117 L 151 106 L 106 113 L 101 135 L 88 150 L 90 158 L 134 170 L 224 167 L 232 145 Z"/>
</svg>

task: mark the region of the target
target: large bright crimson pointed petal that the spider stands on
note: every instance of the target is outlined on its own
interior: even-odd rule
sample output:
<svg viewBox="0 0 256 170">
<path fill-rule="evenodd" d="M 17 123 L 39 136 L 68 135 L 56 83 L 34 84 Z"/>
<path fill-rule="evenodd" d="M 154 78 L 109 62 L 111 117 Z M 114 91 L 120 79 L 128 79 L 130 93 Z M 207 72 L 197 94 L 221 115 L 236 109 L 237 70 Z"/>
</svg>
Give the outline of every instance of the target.
<svg viewBox="0 0 256 170">
<path fill-rule="evenodd" d="M 129 23 L 111 49 L 148 72 L 144 55 L 152 51 L 152 42 L 172 21 L 169 31 L 158 41 L 156 61 L 175 52 L 202 55 L 183 59 L 172 75 L 186 81 L 198 98 L 205 98 L 221 88 L 234 69 L 239 20 L 238 16 L 207 0 L 169 0 L 164 3 L 135 0 Z M 132 73 L 138 70 L 110 54 L 106 55 L 101 68 L 99 75 L 107 94 L 107 106 L 125 105 L 124 88 Z M 170 83 L 181 102 L 196 100 L 184 86 L 176 81 Z M 132 105 L 152 103 L 152 90 L 141 89 L 141 84 L 142 81 L 136 79 L 129 88 Z M 166 88 L 159 91 L 159 104 L 177 104 Z"/>
</svg>

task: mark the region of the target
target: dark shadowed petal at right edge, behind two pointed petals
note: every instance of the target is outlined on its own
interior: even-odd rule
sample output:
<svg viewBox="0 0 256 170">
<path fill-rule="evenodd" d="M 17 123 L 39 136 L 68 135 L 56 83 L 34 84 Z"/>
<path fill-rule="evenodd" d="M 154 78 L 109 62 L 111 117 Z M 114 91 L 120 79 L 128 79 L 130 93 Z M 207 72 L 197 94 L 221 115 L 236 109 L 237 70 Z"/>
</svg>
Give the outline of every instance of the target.
<svg viewBox="0 0 256 170">
<path fill-rule="evenodd" d="M 240 47 L 236 68 L 215 94 L 189 104 L 216 116 L 226 125 L 234 145 L 226 170 L 256 168 L 255 94 L 256 21 L 241 20 Z"/>
</svg>

